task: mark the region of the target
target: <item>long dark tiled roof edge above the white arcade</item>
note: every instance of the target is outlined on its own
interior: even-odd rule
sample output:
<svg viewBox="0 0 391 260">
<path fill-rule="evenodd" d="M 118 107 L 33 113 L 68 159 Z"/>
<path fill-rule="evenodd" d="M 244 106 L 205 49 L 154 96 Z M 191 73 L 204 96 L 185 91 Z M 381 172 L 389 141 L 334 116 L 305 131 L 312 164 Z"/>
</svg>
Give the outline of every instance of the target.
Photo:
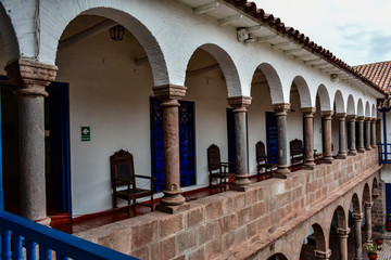
<svg viewBox="0 0 391 260">
<path fill-rule="evenodd" d="M 303 48 L 307 49 L 308 51 L 317 54 L 328 61 L 329 63 L 333 64 L 335 66 L 345 70 L 354 75 L 355 77 L 360 78 L 363 82 L 370 86 L 381 94 L 388 95 L 384 89 L 379 88 L 378 84 L 363 76 L 362 74 L 357 73 L 353 67 L 344 63 L 342 60 L 338 58 L 336 55 L 332 54 L 329 50 L 323 48 L 321 46 L 316 44 L 314 41 L 310 39 L 310 37 L 305 36 L 304 34 L 300 32 L 298 29 L 293 27 L 286 26 L 280 18 L 274 17 L 273 14 L 267 14 L 263 9 L 258 9 L 256 3 L 248 2 L 247 0 L 225 0 L 227 3 L 236 6 L 237 9 L 241 10 L 242 12 L 247 13 L 248 15 L 258 20 L 262 24 L 274 28 L 276 31 L 280 32 L 281 35 L 287 35 L 292 40 L 297 41 Z"/>
</svg>

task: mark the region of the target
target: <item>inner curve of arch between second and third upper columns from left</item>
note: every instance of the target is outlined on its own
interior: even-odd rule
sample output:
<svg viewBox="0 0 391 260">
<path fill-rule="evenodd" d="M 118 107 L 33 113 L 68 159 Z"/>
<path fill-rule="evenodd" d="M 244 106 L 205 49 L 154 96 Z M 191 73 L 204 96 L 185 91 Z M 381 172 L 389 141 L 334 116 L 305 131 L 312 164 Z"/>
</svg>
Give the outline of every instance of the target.
<svg viewBox="0 0 391 260">
<path fill-rule="evenodd" d="M 226 80 L 228 96 L 242 93 L 239 73 L 230 55 L 224 49 L 213 43 L 205 43 L 198 49 L 206 51 L 217 61 Z"/>
</svg>

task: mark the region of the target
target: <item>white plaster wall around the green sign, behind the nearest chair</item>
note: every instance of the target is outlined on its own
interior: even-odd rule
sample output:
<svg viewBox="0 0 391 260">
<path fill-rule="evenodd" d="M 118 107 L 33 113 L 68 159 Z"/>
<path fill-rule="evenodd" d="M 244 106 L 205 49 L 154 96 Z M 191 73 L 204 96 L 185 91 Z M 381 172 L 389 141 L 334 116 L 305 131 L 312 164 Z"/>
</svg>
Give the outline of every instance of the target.
<svg viewBox="0 0 391 260">
<path fill-rule="evenodd" d="M 112 207 L 109 157 L 114 152 L 129 151 L 136 172 L 151 174 L 152 75 L 149 66 L 134 64 L 135 44 L 101 34 L 58 54 L 56 79 L 70 83 L 74 217 Z M 81 126 L 91 128 L 90 142 L 81 142 Z"/>
</svg>

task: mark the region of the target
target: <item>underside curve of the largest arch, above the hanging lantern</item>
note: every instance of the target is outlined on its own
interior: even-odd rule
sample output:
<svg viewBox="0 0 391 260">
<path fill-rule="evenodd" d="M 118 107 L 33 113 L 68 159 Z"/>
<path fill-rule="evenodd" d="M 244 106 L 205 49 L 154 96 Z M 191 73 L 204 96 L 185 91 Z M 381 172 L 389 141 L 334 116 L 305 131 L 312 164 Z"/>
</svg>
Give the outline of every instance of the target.
<svg viewBox="0 0 391 260">
<path fill-rule="evenodd" d="M 156 41 L 152 32 L 136 17 L 121 10 L 113 8 L 91 8 L 84 12 L 78 13 L 73 16 L 72 20 L 67 21 L 66 24 L 61 27 L 61 30 L 55 31 L 59 35 L 55 35 L 56 40 L 60 40 L 61 35 L 65 30 L 66 26 L 78 15 L 98 15 L 112 20 L 122 26 L 124 26 L 128 31 L 130 31 L 135 38 L 140 42 L 144 49 L 150 66 L 152 68 L 152 75 L 154 80 L 154 86 L 164 86 L 169 83 L 169 77 L 167 72 L 166 62 L 162 49 Z M 54 52 L 56 53 L 59 49 L 59 42 L 54 46 Z"/>
</svg>

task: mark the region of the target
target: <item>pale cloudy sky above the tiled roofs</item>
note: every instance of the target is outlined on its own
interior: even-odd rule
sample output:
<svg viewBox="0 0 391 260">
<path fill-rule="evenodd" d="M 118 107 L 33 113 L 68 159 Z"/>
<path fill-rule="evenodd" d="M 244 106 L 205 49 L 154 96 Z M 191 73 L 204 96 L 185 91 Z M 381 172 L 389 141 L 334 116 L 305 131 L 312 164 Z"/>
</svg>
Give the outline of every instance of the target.
<svg viewBox="0 0 391 260">
<path fill-rule="evenodd" d="M 351 66 L 391 61 L 390 0 L 252 0 Z"/>
</svg>

